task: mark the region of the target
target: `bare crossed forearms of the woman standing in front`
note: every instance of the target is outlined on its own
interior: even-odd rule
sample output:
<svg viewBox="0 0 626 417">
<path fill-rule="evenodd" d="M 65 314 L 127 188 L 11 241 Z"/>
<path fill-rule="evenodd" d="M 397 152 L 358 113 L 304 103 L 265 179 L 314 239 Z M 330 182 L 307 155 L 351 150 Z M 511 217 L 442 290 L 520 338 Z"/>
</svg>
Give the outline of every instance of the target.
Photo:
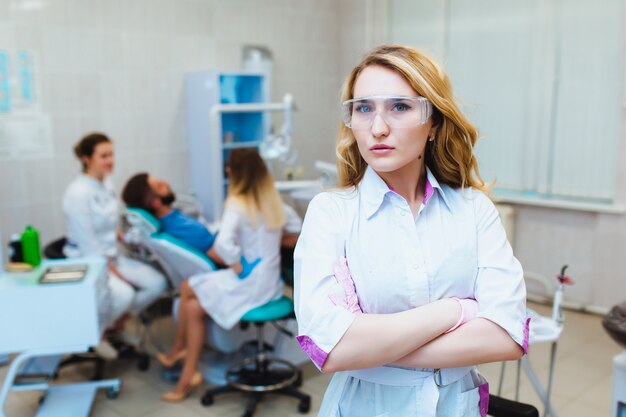
<svg viewBox="0 0 626 417">
<path fill-rule="evenodd" d="M 394 314 L 359 314 L 331 350 L 324 372 L 386 364 L 450 368 L 518 359 L 521 347 L 497 324 L 474 319 L 443 334 L 460 314 L 452 299 Z"/>
</svg>

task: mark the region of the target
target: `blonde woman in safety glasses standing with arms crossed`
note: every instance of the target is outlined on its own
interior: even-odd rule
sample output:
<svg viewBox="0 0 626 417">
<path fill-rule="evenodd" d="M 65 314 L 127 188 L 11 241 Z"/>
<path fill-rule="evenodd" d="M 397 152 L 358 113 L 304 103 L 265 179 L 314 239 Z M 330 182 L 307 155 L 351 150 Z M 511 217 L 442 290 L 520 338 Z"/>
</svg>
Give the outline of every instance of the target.
<svg viewBox="0 0 626 417">
<path fill-rule="evenodd" d="M 311 201 L 295 251 L 298 340 L 335 373 L 319 416 L 484 416 L 474 365 L 518 359 L 528 321 L 477 131 L 408 47 L 371 51 L 343 100 L 341 189 Z"/>
</svg>

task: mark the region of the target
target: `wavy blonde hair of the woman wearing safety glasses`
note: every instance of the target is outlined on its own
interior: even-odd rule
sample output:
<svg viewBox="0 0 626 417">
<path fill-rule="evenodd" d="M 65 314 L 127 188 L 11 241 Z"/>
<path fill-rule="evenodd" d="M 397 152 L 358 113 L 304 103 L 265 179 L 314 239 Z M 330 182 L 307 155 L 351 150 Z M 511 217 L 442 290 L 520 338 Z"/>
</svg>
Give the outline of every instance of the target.
<svg viewBox="0 0 626 417">
<path fill-rule="evenodd" d="M 473 153 L 478 138 L 476 127 L 454 101 L 452 86 L 443 68 L 417 49 L 401 45 L 383 45 L 373 49 L 350 72 L 343 88 L 342 101 L 354 95 L 354 84 L 361 72 L 379 65 L 401 75 L 433 105 L 432 122 L 435 140 L 427 142 L 425 163 L 437 181 L 453 188 L 474 187 L 486 191 Z M 361 157 L 352 130 L 343 123 L 337 140 L 337 170 L 341 187 L 357 186 L 367 163 Z"/>
</svg>

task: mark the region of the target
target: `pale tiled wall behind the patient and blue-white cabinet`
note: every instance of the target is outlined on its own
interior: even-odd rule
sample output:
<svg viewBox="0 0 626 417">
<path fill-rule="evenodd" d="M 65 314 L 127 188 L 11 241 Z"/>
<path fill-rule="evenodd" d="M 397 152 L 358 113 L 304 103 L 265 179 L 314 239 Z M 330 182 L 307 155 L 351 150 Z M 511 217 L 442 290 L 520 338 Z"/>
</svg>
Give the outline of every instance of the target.
<svg viewBox="0 0 626 417">
<path fill-rule="evenodd" d="M 312 175 L 315 159 L 334 155 L 339 28 L 332 0 L 0 0 L 0 50 L 36 55 L 54 146 L 0 161 L 3 239 L 27 222 L 43 244 L 64 233 L 61 195 L 79 172 L 71 149 L 89 131 L 114 141 L 118 190 L 147 170 L 188 191 L 183 75 L 239 69 L 244 44 L 272 50 L 273 98 L 295 96 L 298 163 Z"/>
</svg>

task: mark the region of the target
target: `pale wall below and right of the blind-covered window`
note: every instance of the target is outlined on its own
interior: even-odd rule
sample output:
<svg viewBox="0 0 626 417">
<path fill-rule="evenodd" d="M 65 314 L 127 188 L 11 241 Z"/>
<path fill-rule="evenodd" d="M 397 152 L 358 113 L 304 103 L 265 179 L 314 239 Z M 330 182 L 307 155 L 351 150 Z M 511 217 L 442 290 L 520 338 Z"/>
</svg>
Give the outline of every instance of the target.
<svg viewBox="0 0 626 417">
<path fill-rule="evenodd" d="M 616 202 L 626 205 L 626 111 L 617 158 Z M 592 146 L 592 145 L 591 145 Z M 516 255 L 525 269 L 553 276 L 569 264 L 569 301 L 611 307 L 626 300 L 626 215 L 517 206 Z"/>
</svg>

